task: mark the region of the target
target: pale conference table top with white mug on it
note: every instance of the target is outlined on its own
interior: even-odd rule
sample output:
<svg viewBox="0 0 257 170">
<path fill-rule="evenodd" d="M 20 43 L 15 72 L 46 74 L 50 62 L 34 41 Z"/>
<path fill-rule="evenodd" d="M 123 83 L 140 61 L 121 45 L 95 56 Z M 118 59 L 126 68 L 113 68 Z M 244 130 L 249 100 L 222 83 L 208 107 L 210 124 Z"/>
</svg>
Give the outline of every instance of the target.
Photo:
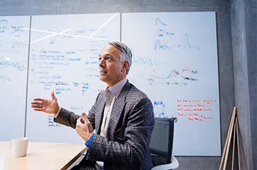
<svg viewBox="0 0 257 170">
<path fill-rule="evenodd" d="M 25 157 L 14 157 L 10 142 L 0 142 L 0 170 L 67 169 L 84 152 L 84 143 L 28 142 Z"/>
</svg>

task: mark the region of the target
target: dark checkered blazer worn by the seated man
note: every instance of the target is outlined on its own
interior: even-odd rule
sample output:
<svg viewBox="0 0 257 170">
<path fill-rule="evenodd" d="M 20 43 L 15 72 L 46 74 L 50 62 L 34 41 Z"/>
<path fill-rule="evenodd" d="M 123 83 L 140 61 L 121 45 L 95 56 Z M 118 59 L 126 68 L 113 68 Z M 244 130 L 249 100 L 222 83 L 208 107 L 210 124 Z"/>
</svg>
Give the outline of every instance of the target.
<svg viewBox="0 0 257 170">
<path fill-rule="evenodd" d="M 96 135 L 84 159 L 104 162 L 104 169 L 151 169 L 149 145 L 155 121 L 147 95 L 127 81 L 115 100 L 106 137 L 99 135 L 104 107 L 105 97 L 100 92 L 88 111 Z M 76 128 L 77 119 L 79 115 L 61 109 L 55 121 Z"/>
</svg>

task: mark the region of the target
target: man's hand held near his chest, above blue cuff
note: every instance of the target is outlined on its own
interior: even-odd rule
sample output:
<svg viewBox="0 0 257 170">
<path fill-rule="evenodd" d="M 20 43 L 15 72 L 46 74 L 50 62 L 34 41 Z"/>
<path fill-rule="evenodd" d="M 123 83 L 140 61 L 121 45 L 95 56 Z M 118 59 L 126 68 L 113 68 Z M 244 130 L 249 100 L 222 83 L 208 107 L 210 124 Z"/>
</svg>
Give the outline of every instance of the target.
<svg viewBox="0 0 257 170">
<path fill-rule="evenodd" d="M 93 135 L 93 127 L 88 121 L 86 114 L 83 112 L 81 117 L 76 121 L 76 133 L 86 142 Z"/>
</svg>

